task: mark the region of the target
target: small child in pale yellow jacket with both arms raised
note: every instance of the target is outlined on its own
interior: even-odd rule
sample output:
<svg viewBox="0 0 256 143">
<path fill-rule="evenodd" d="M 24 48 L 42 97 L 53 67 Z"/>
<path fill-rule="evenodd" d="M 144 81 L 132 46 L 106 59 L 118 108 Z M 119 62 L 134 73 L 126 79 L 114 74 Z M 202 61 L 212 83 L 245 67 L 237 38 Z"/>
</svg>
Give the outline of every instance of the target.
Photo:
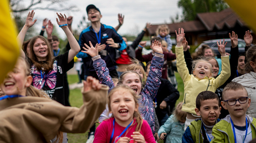
<svg viewBox="0 0 256 143">
<path fill-rule="evenodd" d="M 192 122 L 194 119 L 200 117 L 196 115 L 195 112 L 195 98 L 198 95 L 198 93 L 202 91 L 212 91 L 215 92 L 215 90 L 226 82 L 226 80 L 230 77 L 230 64 L 229 64 L 229 56 L 226 55 L 225 46 L 227 44 L 223 43 L 218 44 L 218 50 L 221 53 L 222 58 L 222 65 L 223 70 L 221 74 L 215 79 L 212 77 L 212 65 L 204 60 L 194 60 L 193 61 L 193 68 L 192 73 L 189 74 L 189 70 L 186 66 L 184 53 L 183 53 L 183 46 L 182 41 L 184 39 L 185 33 L 184 30 L 179 29 L 179 34 L 177 34 L 177 48 L 175 48 L 176 51 L 176 58 L 177 58 L 177 70 L 183 80 L 184 83 L 184 99 L 183 99 L 183 105 L 182 110 L 187 112 L 187 120 L 185 122 L 185 130 L 188 125 L 190 125 L 190 122 Z"/>
</svg>

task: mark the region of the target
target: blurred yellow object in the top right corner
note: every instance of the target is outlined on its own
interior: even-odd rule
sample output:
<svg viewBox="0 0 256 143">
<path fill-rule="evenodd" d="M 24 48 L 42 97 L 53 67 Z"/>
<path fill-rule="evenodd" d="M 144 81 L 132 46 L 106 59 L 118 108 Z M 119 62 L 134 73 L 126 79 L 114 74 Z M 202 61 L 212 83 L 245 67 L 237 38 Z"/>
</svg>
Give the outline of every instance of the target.
<svg viewBox="0 0 256 143">
<path fill-rule="evenodd" d="M 225 0 L 228 5 L 256 32 L 256 6 L 255 0 Z"/>
</svg>

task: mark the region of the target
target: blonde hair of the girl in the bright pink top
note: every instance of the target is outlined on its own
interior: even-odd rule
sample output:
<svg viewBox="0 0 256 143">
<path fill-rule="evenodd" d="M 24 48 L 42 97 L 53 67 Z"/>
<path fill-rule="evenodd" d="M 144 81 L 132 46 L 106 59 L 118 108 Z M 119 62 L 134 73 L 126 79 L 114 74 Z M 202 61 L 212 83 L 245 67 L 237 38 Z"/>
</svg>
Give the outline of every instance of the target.
<svg viewBox="0 0 256 143">
<path fill-rule="evenodd" d="M 110 99 L 111 99 L 111 96 L 115 93 L 115 92 L 118 92 L 118 91 L 123 91 L 125 93 L 130 93 L 132 96 L 133 96 L 133 99 L 135 101 L 135 108 L 137 108 L 138 106 L 138 96 L 135 94 L 135 92 L 129 87 L 129 86 L 126 86 L 124 84 L 119 84 L 118 86 L 114 87 L 108 94 L 107 96 L 107 106 L 108 106 L 108 109 L 109 111 L 111 111 L 111 106 L 110 106 Z M 121 95 L 120 95 L 121 96 Z M 114 117 L 114 115 L 112 114 L 111 117 Z M 141 131 L 141 126 L 142 126 L 142 123 L 143 123 L 143 119 L 139 113 L 139 109 L 137 111 L 134 111 L 133 113 L 133 118 L 136 119 L 135 123 L 132 124 L 131 126 L 134 126 L 136 123 L 137 123 L 137 126 L 135 128 L 135 131 Z"/>
</svg>

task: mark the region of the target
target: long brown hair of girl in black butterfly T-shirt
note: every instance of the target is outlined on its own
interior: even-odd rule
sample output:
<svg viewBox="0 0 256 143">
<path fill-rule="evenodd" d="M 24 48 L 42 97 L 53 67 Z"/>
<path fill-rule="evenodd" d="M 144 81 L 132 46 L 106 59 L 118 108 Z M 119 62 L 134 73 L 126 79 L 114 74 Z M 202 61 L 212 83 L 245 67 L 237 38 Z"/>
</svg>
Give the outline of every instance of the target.
<svg viewBox="0 0 256 143">
<path fill-rule="evenodd" d="M 40 38 L 41 40 L 43 40 L 46 45 L 47 45 L 47 51 L 48 51 L 48 55 L 46 57 L 46 62 L 42 62 L 39 61 L 35 55 L 34 52 L 34 43 L 36 41 L 37 38 Z M 50 71 L 53 69 L 53 62 L 54 62 L 54 58 L 53 58 L 53 51 L 52 51 L 52 47 L 50 46 L 49 42 L 45 39 L 45 37 L 43 36 L 34 36 L 31 41 L 30 41 L 30 59 L 32 61 L 32 63 L 36 66 L 37 70 L 42 70 L 42 68 L 44 69 L 44 71 Z"/>
</svg>

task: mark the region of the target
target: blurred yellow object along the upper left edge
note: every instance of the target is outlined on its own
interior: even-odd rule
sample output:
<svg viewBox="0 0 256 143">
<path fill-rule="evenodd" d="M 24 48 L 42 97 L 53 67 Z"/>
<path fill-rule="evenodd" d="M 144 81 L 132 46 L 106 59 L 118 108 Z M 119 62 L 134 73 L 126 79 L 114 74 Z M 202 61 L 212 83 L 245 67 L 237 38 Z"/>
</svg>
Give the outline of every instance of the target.
<svg viewBox="0 0 256 143">
<path fill-rule="evenodd" d="M 2 83 L 5 75 L 14 68 L 20 48 L 16 40 L 17 29 L 11 18 L 9 0 L 1 0 L 0 15 L 0 83 Z"/>
</svg>

